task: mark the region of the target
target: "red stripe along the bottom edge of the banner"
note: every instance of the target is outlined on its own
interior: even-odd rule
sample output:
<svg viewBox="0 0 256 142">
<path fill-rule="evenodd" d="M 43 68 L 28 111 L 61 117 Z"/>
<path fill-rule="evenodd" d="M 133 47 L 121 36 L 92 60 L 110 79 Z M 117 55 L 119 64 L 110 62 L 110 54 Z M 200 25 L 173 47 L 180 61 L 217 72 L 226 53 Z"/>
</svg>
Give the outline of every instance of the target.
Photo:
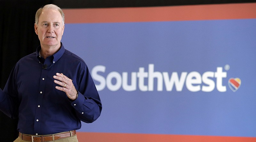
<svg viewBox="0 0 256 142">
<path fill-rule="evenodd" d="M 254 137 L 77 132 L 79 142 L 255 142 Z"/>
</svg>

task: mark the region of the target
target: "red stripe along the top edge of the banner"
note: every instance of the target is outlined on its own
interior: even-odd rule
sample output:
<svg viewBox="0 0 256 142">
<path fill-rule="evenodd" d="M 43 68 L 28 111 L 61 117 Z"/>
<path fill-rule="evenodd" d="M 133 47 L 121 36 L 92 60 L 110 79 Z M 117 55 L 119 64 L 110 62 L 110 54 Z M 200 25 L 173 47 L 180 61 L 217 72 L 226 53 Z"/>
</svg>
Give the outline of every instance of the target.
<svg viewBox="0 0 256 142">
<path fill-rule="evenodd" d="M 112 23 L 256 18 L 256 3 L 63 9 L 66 23 Z"/>
</svg>

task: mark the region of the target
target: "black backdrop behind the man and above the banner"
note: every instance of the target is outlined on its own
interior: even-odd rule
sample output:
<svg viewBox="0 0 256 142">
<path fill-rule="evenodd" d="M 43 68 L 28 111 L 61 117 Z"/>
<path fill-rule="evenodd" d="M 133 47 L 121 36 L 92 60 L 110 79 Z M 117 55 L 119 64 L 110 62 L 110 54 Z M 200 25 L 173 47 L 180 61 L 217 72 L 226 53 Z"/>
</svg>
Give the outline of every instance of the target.
<svg viewBox="0 0 256 142">
<path fill-rule="evenodd" d="M 0 0 L 0 88 L 4 89 L 15 63 L 36 51 L 40 44 L 34 20 L 37 9 L 46 4 L 60 8 L 106 8 L 251 2 L 256 0 Z M 0 111 L 1 142 L 12 142 L 18 137 L 17 122 Z"/>
</svg>

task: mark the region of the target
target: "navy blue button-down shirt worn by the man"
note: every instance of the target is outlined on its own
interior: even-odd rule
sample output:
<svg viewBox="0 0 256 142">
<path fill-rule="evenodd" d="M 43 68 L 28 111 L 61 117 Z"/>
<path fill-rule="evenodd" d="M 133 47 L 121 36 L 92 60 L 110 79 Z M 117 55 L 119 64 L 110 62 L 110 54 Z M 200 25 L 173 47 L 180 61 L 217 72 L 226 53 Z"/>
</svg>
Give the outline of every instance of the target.
<svg viewBox="0 0 256 142">
<path fill-rule="evenodd" d="M 47 135 L 81 128 L 101 113 L 101 101 L 88 67 L 72 52 L 61 48 L 46 59 L 37 51 L 20 59 L 2 91 L 0 110 L 19 118 L 18 130 L 24 134 Z M 63 73 L 78 91 L 75 101 L 57 90 L 53 75 Z"/>
</svg>

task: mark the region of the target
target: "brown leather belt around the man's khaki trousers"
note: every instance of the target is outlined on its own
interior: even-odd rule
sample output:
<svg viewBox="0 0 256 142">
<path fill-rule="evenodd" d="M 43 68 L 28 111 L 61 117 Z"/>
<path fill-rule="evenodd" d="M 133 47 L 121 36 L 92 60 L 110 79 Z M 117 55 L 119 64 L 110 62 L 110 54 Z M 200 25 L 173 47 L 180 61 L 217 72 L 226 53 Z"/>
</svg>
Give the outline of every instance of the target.
<svg viewBox="0 0 256 142">
<path fill-rule="evenodd" d="M 32 142 L 47 142 L 47 141 L 53 141 L 53 140 L 57 140 L 57 139 L 61 139 L 61 138 L 68 138 L 68 137 L 71 137 L 74 135 L 76 135 L 76 130 L 58 133 L 58 134 L 54 134 L 54 135 L 39 135 L 39 136 L 35 136 L 35 135 L 28 136 L 28 135 L 19 133 L 19 137 L 22 140 L 32 141 Z"/>
</svg>

